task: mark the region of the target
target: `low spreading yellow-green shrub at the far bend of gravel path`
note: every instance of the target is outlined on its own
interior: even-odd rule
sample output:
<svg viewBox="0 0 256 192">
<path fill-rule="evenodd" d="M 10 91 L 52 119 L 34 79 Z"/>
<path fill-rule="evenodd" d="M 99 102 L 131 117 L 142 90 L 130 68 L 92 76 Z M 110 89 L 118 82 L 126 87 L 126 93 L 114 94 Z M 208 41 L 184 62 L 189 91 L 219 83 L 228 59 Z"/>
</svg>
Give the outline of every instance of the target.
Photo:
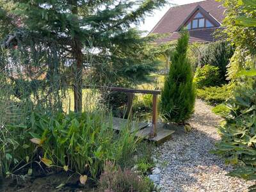
<svg viewBox="0 0 256 192">
<path fill-rule="evenodd" d="M 232 93 L 232 86 L 211 86 L 196 90 L 196 96 L 205 100 L 208 104 L 216 105 L 225 102 Z"/>
</svg>

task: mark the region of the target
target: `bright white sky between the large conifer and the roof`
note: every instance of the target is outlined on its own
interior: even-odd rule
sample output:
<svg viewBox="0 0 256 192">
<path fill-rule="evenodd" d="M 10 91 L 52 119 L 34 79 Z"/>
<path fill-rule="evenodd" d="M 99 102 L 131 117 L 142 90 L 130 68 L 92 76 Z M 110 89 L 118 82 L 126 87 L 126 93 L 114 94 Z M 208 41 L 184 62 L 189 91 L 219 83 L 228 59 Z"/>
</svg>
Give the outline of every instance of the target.
<svg viewBox="0 0 256 192">
<path fill-rule="evenodd" d="M 168 11 L 171 6 L 180 5 L 180 4 L 188 4 L 188 3 L 195 3 L 203 0 L 169 0 L 171 4 L 166 4 L 161 10 L 156 10 L 152 16 L 148 16 L 145 18 L 144 24 L 141 23 L 138 28 L 142 31 L 151 31 L 157 22 L 163 17 L 164 13 Z"/>
</svg>

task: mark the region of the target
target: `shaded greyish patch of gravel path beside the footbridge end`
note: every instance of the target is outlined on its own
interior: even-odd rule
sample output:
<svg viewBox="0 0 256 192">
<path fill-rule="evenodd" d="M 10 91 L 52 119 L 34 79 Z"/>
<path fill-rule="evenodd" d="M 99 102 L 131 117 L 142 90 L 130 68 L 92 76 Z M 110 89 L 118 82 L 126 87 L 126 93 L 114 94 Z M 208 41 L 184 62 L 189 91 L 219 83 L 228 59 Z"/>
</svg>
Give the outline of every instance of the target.
<svg viewBox="0 0 256 192">
<path fill-rule="evenodd" d="M 168 126 L 168 129 L 174 130 L 175 133 L 170 141 L 158 148 L 161 155 L 157 159 L 161 159 L 165 164 L 162 168 L 166 177 L 165 185 L 170 186 L 170 189 L 173 186 L 173 191 L 184 191 L 184 186 L 188 188 L 195 184 L 198 182 L 195 176 L 200 173 L 230 170 L 220 157 L 210 153 L 217 140 L 207 134 L 207 129 L 215 129 L 216 121 L 215 124 L 213 120 L 199 123 L 204 124 L 205 131 L 193 128 L 191 132 L 186 133 L 183 126 Z"/>
</svg>

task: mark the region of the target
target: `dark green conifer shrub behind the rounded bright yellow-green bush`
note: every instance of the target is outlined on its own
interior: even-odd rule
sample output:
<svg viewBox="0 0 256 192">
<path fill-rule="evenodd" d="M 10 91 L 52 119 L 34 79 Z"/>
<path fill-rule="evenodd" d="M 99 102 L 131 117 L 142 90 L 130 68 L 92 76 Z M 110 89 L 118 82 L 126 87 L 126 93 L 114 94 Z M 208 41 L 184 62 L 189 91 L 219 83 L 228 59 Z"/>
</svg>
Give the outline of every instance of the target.
<svg viewBox="0 0 256 192">
<path fill-rule="evenodd" d="M 220 82 L 225 83 L 227 65 L 234 54 L 234 48 L 227 42 L 213 42 L 200 48 L 197 65 L 212 65 L 220 69 Z"/>
</svg>

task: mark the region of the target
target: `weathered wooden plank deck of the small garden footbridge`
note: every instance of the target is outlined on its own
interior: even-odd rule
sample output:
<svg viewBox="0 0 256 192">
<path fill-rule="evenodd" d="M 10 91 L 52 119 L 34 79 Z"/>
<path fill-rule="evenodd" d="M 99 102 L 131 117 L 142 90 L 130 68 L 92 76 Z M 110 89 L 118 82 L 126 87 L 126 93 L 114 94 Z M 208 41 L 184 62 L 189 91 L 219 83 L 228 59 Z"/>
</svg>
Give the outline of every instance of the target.
<svg viewBox="0 0 256 192">
<path fill-rule="evenodd" d="M 127 125 L 128 120 L 124 118 L 116 118 L 113 117 L 113 129 L 116 131 L 120 131 L 124 125 Z M 132 121 L 132 129 L 131 132 L 138 130 L 136 135 L 145 140 L 154 141 L 157 145 L 163 143 L 166 140 L 169 140 L 173 134 L 173 130 L 164 129 L 163 126 L 157 126 L 157 136 L 154 138 L 148 138 L 148 134 L 150 133 L 150 124 L 143 122 L 135 122 Z"/>
</svg>

